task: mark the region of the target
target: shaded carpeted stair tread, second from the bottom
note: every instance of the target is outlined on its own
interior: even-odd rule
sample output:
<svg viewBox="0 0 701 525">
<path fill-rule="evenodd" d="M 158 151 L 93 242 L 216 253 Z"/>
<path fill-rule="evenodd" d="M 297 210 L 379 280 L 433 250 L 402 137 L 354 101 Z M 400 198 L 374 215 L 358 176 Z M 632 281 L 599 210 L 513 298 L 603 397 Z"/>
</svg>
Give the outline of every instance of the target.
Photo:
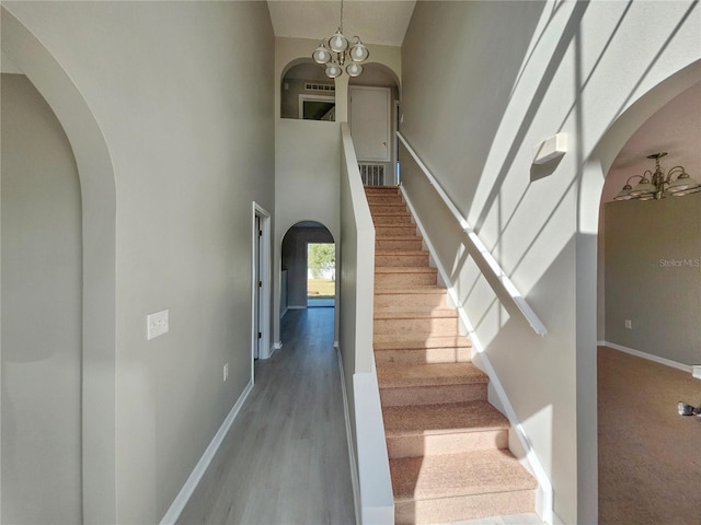
<svg viewBox="0 0 701 525">
<path fill-rule="evenodd" d="M 485 400 L 383 407 L 382 418 L 387 438 L 509 428 L 507 419 Z"/>
</svg>

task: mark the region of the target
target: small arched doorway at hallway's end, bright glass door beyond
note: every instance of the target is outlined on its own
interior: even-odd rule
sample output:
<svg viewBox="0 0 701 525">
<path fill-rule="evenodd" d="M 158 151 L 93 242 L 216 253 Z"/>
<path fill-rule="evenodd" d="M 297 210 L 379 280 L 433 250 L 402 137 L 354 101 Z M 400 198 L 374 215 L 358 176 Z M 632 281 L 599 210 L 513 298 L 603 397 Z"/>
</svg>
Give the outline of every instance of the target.
<svg viewBox="0 0 701 525">
<path fill-rule="evenodd" d="M 320 222 L 300 221 L 283 237 L 280 317 L 288 310 L 334 306 L 335 298 L 333 235 Z"/>
</svg>

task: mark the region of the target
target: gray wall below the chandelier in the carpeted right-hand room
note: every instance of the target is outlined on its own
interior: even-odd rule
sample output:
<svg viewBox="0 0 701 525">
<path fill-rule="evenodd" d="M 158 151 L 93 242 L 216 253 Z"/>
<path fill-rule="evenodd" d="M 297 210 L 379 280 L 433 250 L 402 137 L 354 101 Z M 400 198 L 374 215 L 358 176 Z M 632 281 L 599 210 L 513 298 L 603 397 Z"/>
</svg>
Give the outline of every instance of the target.
<svg viewBox="0 0 701 525">
<path fill-rule="evenodd" d="M 606 340 L 701 363 L 701 194 L 605 208 Z"/>
</svg>

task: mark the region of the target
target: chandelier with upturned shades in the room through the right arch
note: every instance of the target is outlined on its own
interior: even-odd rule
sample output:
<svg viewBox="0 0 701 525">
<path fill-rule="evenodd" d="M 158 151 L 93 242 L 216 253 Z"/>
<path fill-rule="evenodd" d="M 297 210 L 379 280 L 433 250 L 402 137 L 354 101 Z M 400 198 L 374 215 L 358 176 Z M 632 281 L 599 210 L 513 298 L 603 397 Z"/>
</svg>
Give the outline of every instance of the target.
<svg viewBox="0 0 701 525">
<path fill-rule="evenodd" d="M 623 189 L 613 197 L 613 200 L 659 200 L 667 196 L 681 197 L 701 191 L 701 184 L 691 178 L 683 166 L 675 166 L 667 175 L 659 167 L 659 159 L 667 153 L 653 153 L 647 159 L 655 160 L 655 173 L 645 170 L 642 175 L 633 175 L 625 182 Z M 676 177 L 676 178 L 675 178 Z M 631 186 L 631 179 L 640 178 L 635 187 Z"/>
</svg>

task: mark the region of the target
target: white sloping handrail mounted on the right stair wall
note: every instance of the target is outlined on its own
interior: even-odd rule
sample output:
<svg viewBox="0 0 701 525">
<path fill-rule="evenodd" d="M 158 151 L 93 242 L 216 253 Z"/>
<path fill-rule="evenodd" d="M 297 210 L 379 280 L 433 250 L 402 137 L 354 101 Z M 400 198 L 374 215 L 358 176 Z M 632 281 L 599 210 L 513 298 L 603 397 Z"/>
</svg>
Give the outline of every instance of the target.
<svg viewBox="0 0 701 525">
<path fill-rule="evenodd" d="M 489 265 L 490 269 L 494 273 L 494 277 L 496 277 L 496 279 L 502 283 L 502 287 L 504 287 L 504 291 L 506 291 L 506 293 L 508 293 L 508 295 L 512 298 L 512 301 L 514 301 L 514 304 L 516 304 L 516 307 L 518 307 L 521 314 L 524 314 L 524 317 L 526 317 L 526 320 L 528 320 L 531 328 L 539 336 L 544 336 L 545 334 L 548 334 L 548 328 L 545 328 L 545 325 L 543 325 L 542 322 L 538 318 L 533 310 L 530 307 L 530 305 L 526 302 L 524 296 L 516 289 L 516 287 L 514 285 L 512 280 L 508 278 L 508 276 L 504 273 L 504 270 L 502 270 L 502 267 L 498 265 L 496 259 L 492 256 L 492 254 L 486 248 L 486 246 L 484 246 L 484 243 L 482 243 L 480 237 L 478 237 L 478 234 L 474 232 L 470 223 L 467 221 L 464 217 L 462 217 L 462 214 L 460 213 L 460 210 L 458 210 L 458 208 L 452 202 L 452 200 L 450 200 L 450 197 L 448 197 L 448 195 L 444 191 L 444 189 L 438 184 L 438 180 L 436 180 L 436 178 L 433 176 L 430 171 L 422 162 L 422 160 L 418 158 L 414 149 L 409 144 L 406 139 L 399 131 L 397 131 L 397 137 L 399 137 L 399 140 L 402 141 L 402 144 L 404 144 L 404 148 L 406 148 L 406 151 L 409 151 L 409 153 L 412 155 L 412 158 L 414 159 L 418 167 L 421 167 L 422 172 L 424 172 L 424 175 L 426 175 L 426 178 L 428 178 L 428 182 L 430 183 L 430 185 L 434 188 L 436 188 L 436 191 L 438 192 L 438 195 L 440 196 L 445 205 L 450 210 L 450 213 L 452 213 L 452 217 L 456 218 L 462 231 L 468 235 L 468 238 L 472 243 L 472 246 L 474 247 L 474 249 L 476 249 L 480 253 L 480 255 L 484 258 L 485 262 Z"/>
</svg>

